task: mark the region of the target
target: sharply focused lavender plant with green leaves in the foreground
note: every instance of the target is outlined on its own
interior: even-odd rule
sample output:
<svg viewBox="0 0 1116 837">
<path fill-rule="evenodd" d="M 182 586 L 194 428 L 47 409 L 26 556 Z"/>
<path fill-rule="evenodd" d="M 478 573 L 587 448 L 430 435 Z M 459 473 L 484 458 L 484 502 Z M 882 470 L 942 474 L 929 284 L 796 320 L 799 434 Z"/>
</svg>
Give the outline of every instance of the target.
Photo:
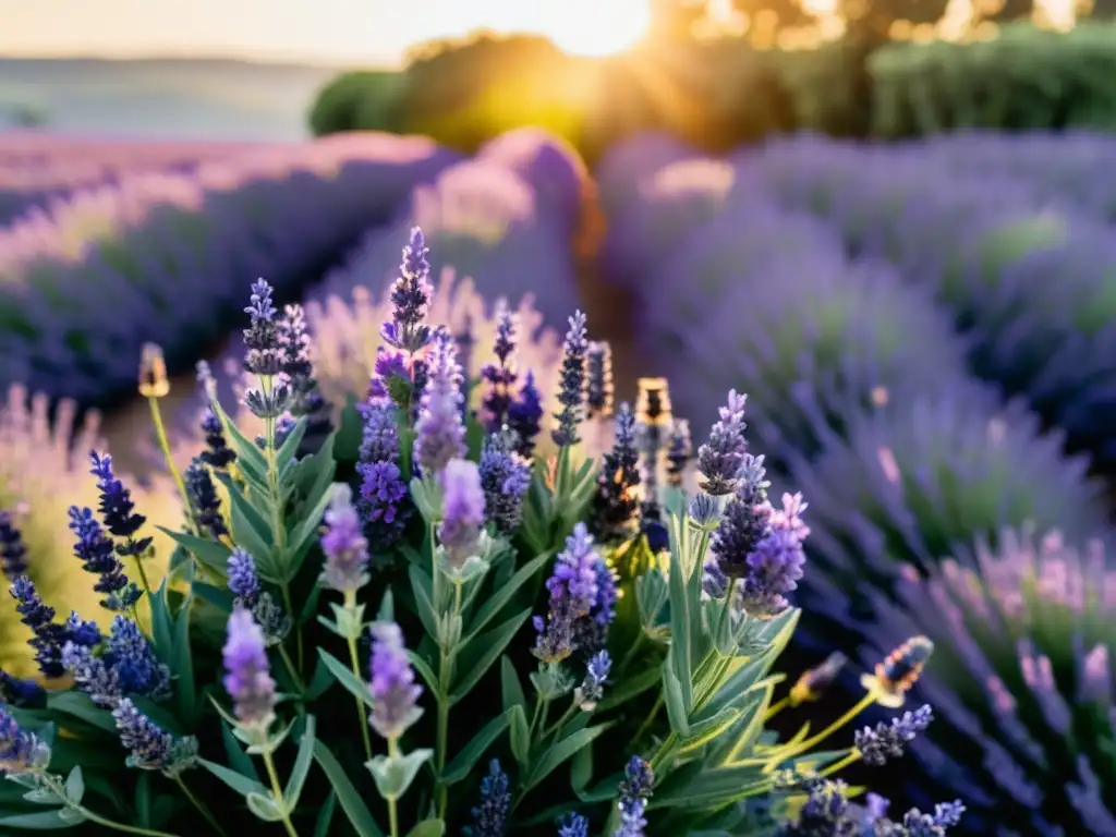
<svg viewBox="0 0 1116 837">
<path fill-rule="evenodd" d="M 665 433 L 670 400 L 665 382 L 645 382 L 638 415 L 617 412 L 606 469 L 626 481 L 643 456 L 644 479 L 625 487 L 642 488 L 641 513 L 654 507 L 666 537 L 616 528 L 597 540 L 585 521 L 599 468 L 578 443 L 585 316 L 569 320 L 552 421 L 520 395 L 488 431 L 461 410 L 455 344 L 429 319 L 423 241 L 414 231 L 381 329 L 396 354 L 382 353 L 362 410 L 312 452 L 301 445 L 312 417 L 286 415 L 291 314 L 252 286 L 243 402 L 261 440 L 206 387 L 208 455 L 192 464 L 183 525 L 164 527 L 176 543 L 165 577 L 133 581 L 131 562 L 151 548 L 141 511 L 94 454 L 102 503 L 73 523 L 112 622 L 64 618 L 30 578 L 12 581 L 45 687 L 0 677 L 0 827 L 798 834 L 818 789 L 837 787 L 830 777 L 894 759 L 925 729 L 929 709 L 848 730 L 868 706 L 904 705 L 933 650 L 915 636 L 864 674 L 864 696 L 835 723 L 786 741 L 764 731 L 830 675 L 807 673 L 793 700 L 771 702 L 808 571 L 807 504 L 768 497 L 743 396 L 730 394 L 700 446 L 703 489 L 687 497 L 647 473 L 665 443 L 648 427 Z M 336 449 L 353 433 L 372 468 L 348 475 Z M 546 436 L 552 455 L 522 448 Z M 672 468 L 686 449 L 670 446 Z M 203 468 L 220 487 L 220 526 L 196 488 Z M 830 742 L 839 749 L 819 749 Z M 908 812 L 887 834 L 941 833 L 960 809 Z"/>
</svg>

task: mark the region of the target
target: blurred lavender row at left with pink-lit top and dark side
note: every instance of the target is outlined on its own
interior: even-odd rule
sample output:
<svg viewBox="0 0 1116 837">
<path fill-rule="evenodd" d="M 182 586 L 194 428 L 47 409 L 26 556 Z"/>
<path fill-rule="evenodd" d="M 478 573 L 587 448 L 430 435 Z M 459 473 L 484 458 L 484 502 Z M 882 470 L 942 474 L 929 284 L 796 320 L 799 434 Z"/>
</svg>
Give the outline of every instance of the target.
<svg viewBox="0 0 1116 837">
<path fill-rule="evenodd" d="M 185 368 L 225 337 L 247 281 L 299 296 L 459 160 L 420 137 L 349 134 L 49 204 L 0 231 L 0 388 L 108 403 L 134 388 L 150 340 Z"/>
</svg>

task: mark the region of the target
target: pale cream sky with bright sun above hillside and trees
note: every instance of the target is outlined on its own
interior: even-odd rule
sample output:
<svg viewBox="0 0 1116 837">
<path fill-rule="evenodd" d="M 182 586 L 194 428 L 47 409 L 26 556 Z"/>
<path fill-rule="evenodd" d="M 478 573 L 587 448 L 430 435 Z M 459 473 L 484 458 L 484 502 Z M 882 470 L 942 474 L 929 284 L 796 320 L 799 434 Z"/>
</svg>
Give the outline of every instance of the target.
<svg viewBox="0 0 1116 837">
<path fill-rule="evenodd" d="M 221 56 L 397 64 L 478 28 L 602 55 L 638 39 L 646 0 L 0 0 L 0 56 Z"/>
</svg>

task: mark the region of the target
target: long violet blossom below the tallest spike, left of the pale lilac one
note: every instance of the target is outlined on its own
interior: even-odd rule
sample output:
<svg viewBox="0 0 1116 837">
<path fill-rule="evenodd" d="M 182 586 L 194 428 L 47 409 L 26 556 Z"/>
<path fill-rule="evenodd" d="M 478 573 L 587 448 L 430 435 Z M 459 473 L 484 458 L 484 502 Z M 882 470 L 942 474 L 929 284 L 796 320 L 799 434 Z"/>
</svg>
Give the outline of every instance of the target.
<svg viewBox="0 0 1116 837">
<path fill-rule="evenodd" d="M 362 405 L 364 431 L 360 477 L 355 501 L 371 548 L 384 550 L 398 540 L 410 517 L 407 487 L 400 470 L 400 434 L 395 407 L 386 398 Z"/>
</svg>

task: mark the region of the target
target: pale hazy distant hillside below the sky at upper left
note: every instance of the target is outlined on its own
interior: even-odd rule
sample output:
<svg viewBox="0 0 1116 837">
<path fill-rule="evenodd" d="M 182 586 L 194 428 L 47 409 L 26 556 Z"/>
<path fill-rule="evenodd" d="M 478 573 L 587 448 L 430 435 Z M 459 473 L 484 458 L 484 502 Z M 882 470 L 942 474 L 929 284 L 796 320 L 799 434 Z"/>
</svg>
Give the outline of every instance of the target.
<svg viewBox="0 0 1116 837">
<path fill-rule="evenodd" d="M 0 129 L 161 140 L 300 140 L 336 68 L 221 59 L 0 58 Z"/>
</svg>

